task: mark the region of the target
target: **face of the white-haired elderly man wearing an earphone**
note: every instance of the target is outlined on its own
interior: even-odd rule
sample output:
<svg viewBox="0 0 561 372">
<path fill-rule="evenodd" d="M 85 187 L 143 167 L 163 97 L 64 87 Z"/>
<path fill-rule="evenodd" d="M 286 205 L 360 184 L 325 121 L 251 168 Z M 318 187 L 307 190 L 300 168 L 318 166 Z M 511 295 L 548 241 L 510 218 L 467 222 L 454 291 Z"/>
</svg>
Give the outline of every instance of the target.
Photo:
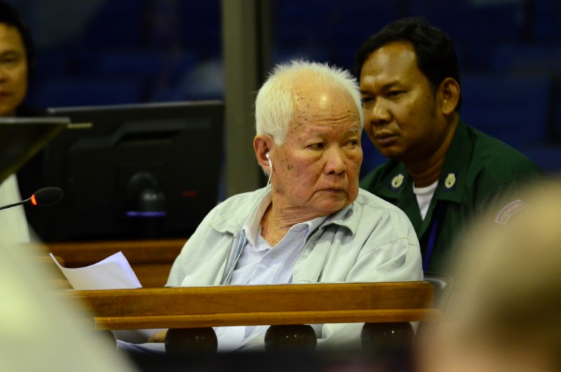
<svg viewBox="0 0 561 372">
<path fill-rule="evenodd" d="M 358 194 L 363 161 L 358 108 L 346 91 L 314 81 L 300 82 L 293 100 L 287 138 L 271 151 L 275 202 L 329 215 Z"/>
</svg>

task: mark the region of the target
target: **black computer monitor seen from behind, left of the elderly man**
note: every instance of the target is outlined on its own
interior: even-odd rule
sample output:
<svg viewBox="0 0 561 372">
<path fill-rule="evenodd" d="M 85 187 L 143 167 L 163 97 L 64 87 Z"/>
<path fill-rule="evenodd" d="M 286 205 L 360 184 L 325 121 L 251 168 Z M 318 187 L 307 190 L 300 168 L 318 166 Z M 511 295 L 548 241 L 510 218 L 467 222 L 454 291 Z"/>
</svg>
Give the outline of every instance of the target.
<svg viewBox="0 0 561 372">
<path fill-rule="evenodd" d="M 43 241 L 188 238 L 219 201 L 222 101 L 58 107 L 41 186 L 62 201 L 28 214 Z"/>
</svg>

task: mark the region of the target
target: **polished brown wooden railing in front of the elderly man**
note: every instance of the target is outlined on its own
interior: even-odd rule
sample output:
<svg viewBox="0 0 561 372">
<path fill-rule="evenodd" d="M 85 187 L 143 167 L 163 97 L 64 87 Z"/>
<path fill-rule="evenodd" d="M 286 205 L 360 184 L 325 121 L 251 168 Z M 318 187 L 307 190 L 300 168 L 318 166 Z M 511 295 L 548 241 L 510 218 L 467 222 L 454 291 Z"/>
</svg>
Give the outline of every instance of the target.
<svg viewBox="0 0 561 372">
<path fill-rule="evenodd" d="M 201 339 L 201 331 L 208 335 L 213 326 L 408 325 L 441 316 L 433 308 L 433 286 L 426 281 L 139 288 L 58 295 L 86 303 L 95 314 L 96 329 L 170 328 L 168 338 L 175 331 L 191 329 L 193 332 L 181 333 L 182 337 Z M 180 343 L 193 347 L 192 342 Z M 189 351 L 168 345 L 166 339 L 168 347 Z"/>
</svg>

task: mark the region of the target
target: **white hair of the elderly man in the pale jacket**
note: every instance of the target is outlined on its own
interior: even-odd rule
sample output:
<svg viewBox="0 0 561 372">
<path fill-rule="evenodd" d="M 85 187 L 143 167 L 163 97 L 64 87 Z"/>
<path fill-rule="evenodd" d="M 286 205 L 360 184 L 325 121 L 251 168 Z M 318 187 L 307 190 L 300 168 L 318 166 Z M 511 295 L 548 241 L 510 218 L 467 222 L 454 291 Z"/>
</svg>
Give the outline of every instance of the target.
<svg viewBox="0 0 561 372">
<path fill-rule="evenodd" d="M 351 95 L 360 116 L 360 130 L 364 126 L 363 108 L 358 83 L 346 69 L 327 63 L 292 60 L 276 65 L 257 93 L 255 100 L 255 130 L 257 134 L 271 135 L 276 145 L 286 139 L 294 108 L 292 90 L 302 76 L 318 77 L 319 81 L 342 88 Z"/>
</svg>

